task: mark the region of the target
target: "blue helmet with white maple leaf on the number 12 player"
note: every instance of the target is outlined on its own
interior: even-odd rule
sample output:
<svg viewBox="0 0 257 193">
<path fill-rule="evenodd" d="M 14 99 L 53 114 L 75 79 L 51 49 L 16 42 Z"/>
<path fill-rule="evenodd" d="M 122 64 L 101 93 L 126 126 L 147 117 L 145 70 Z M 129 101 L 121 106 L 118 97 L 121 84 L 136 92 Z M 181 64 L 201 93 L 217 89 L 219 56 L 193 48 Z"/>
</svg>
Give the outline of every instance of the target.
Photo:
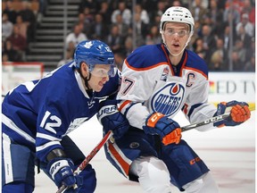
<svg viewBox="0 0 257 193">
<path fill-rule="evenodd" d="M 113 73 L 114 55 L 111 48 L 100 40 L 81 41 L 75 49 L 74 60 L 78 69 L 82 62 L 87 63 L 90 72 L 94 70 L 95 64 L 109 64 L 109 75 Z"/>
</svg>

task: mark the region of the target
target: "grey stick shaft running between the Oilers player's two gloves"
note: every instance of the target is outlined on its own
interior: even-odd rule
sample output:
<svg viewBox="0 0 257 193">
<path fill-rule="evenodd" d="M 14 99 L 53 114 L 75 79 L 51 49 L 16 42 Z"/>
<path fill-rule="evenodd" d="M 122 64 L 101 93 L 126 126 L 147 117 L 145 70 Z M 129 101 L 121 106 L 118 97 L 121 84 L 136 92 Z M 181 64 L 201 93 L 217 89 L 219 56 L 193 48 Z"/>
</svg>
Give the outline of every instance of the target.
<svg viewBox="0 0 257 193">
<path fill-rule="evenodd" d="M 255 111 L 255 108 L 250 108 L 250 111 Z M 230 112 L 220 114 L 220 115 L 215 116 L 215 117 L 211 117 L 209 119 L 204 120 L 203 122 L 195 122 L 193 124 L 189 124 L 187 126 L 181 127 L 181 131 L 183 132 L 183 131 L 187 131 L 187 130 L 192 130 L 192 129 L 195 129 L 196 127 L 200 127 L 200 126 L 209 124 L 211 122 L 219 122 L 221 120 L 226 119 L 229 116 L 229 114 L 230 114 Z"/>
</svg>

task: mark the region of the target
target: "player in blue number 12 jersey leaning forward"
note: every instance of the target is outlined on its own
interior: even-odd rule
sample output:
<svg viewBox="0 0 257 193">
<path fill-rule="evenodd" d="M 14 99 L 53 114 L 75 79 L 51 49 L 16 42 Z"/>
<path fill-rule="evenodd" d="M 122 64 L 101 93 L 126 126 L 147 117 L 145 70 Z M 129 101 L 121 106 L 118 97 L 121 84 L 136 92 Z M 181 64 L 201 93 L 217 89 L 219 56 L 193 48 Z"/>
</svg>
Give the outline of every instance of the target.
<svg viewBox="0 0 257 193">
<path fill-rule="evenodd" d="M 120 76 L 113 62 L 104 42 L 82 41 L 74 61 L 9 91 L 2 104 L 2 192 L 32 192 L 35 163 L 65 192 L 94 192 L 90 164 L 73 175 L 85 155 L 67 134 L 116 96 Z"/>
</svg>

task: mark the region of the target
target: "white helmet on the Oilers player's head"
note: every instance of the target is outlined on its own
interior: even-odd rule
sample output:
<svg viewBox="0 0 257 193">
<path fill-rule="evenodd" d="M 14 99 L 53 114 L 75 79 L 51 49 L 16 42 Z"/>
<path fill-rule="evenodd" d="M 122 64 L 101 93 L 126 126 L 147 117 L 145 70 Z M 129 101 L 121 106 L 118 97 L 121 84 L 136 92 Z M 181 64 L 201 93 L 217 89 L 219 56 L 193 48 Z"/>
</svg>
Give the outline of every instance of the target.
<svg viewBox="0 0 257 193">
<path fill-rule="evenodd" d="M 180 22 L 187 23 L 190 27 L 190 32 L 193 33 L 195 21 L 190 11 L 185 7 L 172 6 L 162 14 L 160 30 L 164 29 L 165 22 Z"/>
</svg>

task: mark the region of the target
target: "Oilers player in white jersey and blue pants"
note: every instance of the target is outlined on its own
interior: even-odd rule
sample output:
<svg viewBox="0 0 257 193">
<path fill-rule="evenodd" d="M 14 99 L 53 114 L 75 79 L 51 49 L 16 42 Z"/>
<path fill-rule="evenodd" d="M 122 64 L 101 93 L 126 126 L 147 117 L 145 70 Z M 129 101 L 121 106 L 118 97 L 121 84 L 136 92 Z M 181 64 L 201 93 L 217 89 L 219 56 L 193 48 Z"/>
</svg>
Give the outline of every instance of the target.
<svg viewBox="0 0 257 193">
<path fill-rule="evenodd" d="M 250 118 L 245 102 L 208 104 L 208 69 L 187 50 L 195 21 L 184 7 L 170 7 L 162 15 L 162 44 L 138 47 L 126 58 L 118 93 L 119 111 L 131 127 L 105 147 L 108 160 L 145 192 L 168 193 L 170 182 L 187 193 L 217 193 L 218 187 L 200 156 L 181 139 L 178 111 L 191 123 L 230 111 L 228 119 L 197 128 L 235 126 Z M 114 128 L 101 117 L 104 131 Z"/>
</svg>

